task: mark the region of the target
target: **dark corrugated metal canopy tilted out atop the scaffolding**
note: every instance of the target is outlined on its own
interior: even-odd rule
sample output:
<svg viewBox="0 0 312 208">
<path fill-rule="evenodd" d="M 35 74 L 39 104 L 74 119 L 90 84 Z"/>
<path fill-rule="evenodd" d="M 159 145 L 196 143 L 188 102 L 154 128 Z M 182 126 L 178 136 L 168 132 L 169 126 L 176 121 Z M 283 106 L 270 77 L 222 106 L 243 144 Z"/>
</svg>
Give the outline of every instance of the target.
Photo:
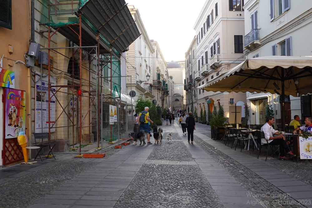
<svg viewBox="0 0 312 208">
<path fill-rule="evenodd" d="M 80 10 L 120 53 L 140 36 L 124 0 L 88 0 Z"/>
</svg>

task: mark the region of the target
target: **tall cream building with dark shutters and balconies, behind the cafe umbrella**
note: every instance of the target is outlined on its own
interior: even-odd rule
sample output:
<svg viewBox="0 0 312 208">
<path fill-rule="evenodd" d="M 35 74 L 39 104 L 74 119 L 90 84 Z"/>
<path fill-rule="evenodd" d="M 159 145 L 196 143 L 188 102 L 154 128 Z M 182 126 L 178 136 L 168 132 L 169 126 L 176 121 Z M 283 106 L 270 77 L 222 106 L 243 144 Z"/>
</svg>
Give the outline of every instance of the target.
<svg viewBox="0 0 312 208">
<path fill-rule="evenodd" d="M 231 2 L 231 3 L 230 3 Z M 235 4 L 234 4 L 235 3 Z M 196 31 L 197 87 L 241 63 L 244 40 L 244 11 L 241 1 L 207 0 L 194 24 Z M 246 103 L 245 93 L 220 93 L 198 90 L 197 113 L 207 110 L 207 99 L 213 98 L 217 108 L 223 105 L 229 117 L 229 106 Z"/>
</svg>

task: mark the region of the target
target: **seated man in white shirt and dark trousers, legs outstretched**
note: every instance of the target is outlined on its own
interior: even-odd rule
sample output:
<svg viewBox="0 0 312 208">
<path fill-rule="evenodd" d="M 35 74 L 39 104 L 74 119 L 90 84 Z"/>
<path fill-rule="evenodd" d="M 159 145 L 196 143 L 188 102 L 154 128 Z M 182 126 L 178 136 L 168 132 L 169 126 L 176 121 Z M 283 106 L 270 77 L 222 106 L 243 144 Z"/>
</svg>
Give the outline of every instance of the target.
<svg viewBox="0 0 312 208">
<path fill-rule="evenodd" d="M 272 127 L 272 124 L 274 123 L 274 117 L 273 116 L 267 116 L 266 117 L 266 123 L 261 127 L 261 131 L 264 132 L 265 138 L 261 138 L 261 144 L 266 144 L 267 142 L 270 143 L 270 145 L 280 145 L 280 160 L 288 160 L 288 157 L 285 157 L 284 150 L 286 151 L 286 155 L 290 157 L 294 157 L 294 155 L 288 148 L 285 137 L 278 133 L 277 130 L 274 130 Z M 273 134 L 278 135 L 276 137 L 273 137 Z M 267 140 L 267 142 L 266 142 Z"/>
</svg>

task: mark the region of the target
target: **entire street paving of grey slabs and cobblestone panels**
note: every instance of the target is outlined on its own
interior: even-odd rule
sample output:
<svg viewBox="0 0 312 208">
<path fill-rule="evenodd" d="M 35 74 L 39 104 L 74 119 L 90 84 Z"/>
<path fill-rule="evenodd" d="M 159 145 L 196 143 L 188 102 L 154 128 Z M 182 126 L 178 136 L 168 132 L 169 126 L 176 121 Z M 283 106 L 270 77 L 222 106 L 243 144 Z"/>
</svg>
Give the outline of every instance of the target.
<svg viewBox="0 0 312 208">
<path fill-rule="evenodd" d="M 194 144 L 178 123 L 158 145 L 110 149 L 107 157 L 74 158 L 0 169 L 0 207 L 308 207 L 311 163 L 236 151 L 197 124 Z M 172 134 L 172 141 L 165 139 Z M 151 138 L 154 143 L 154 138 Z M 108 154 L 110 153 L 110 154 Z"/>
</svg>

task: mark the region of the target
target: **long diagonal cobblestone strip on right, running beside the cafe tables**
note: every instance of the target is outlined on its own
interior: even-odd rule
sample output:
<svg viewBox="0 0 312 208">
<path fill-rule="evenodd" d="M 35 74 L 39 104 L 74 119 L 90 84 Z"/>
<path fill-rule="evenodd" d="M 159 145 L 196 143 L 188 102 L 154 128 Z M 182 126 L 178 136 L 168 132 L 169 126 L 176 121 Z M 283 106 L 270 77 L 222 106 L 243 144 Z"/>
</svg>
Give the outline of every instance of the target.
<svg viewBox="0 0 312 208">
<path fill-rule="evenodd" d="M 270 202 L 272 204 L 273 200 L 283 200 L 283 201 L 294 201 L 292 198 L 288 198 L 287 194 L 280 191 L 277 187 L 273 186 L 270 182 L 259 177 L 256 173 L 252 172 L 239 162 L 236 162 L 231 157 L 222 153 L 221 151 L 215 149 L 210 144 L 203 141 L 201 138 L 194 135 L 194 142 L 200 146 L 205 152 L 208 153 L 218 164 L 220 164 L 228 173 L 230 173 L 234 179 L 241 184 L 241 186 L 250 193 L 258 194 L 259 197 L 254 197 L 261 202 Z M 268 193 L 269 197 L 261 197 L 263 194 Z M 271 197 L 271 194 L 280 194 L 280 196 L 286 197 Z M 266 205 L 266 207 L 273 207 L 273 205 Z M 279 205 L 278 207 L 287 207 L 287 208 L 297 208 L 304 207 L 296 203 L 296 205 Z"/>
</svg>

